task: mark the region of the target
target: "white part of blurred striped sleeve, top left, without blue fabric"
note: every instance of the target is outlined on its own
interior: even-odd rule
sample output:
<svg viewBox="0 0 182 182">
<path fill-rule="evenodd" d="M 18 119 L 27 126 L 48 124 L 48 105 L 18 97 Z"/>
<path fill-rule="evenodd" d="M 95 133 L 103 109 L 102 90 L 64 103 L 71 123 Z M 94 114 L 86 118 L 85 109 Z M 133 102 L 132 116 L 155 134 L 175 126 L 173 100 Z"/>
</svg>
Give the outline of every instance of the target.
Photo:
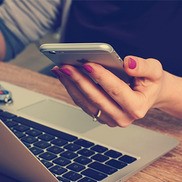
<svg viewBox="0 0 182 182">
<path fill-rule="evenodd" d="M 0 18 L 27 45 L 58 28 L 61 5 L 61 0 L 5 0 Z"/>
</svg>

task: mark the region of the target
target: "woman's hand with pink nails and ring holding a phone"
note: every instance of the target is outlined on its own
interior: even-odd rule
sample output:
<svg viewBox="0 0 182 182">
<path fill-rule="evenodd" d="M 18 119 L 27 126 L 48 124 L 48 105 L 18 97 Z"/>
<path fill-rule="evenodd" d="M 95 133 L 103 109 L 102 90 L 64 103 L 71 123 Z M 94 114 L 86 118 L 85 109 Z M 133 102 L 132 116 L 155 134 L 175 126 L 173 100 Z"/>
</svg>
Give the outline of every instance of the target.
<svg viewBox="0 0 182 182">
<path fill-rule="evenodd" d="M 134 77 L 132 87 L 101 65 L 86 63 L 83 68 L 89 76 L 70 65 L 52 71 L 86 113 L 93 116 L 102 111 L 98 121 L 103 124 L 126 127 L 160 102 L 164 71 L 155 59 L 125 57 L 124 70 Z"/>
</svg>

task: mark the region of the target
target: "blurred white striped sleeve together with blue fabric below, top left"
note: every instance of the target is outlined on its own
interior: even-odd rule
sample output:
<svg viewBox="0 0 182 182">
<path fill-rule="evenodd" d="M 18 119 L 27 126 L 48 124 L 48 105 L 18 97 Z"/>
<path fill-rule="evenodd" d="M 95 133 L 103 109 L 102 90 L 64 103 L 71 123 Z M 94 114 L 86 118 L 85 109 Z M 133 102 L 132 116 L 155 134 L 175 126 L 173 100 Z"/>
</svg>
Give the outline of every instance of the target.
<svg viewBox="0 0 182 182">
<path fill-rule="evenodd" d="M 9 61 L 28 44 L 40 40 L 60 25 L 61 0 L 4 1 L 0 6 L 0 32 L 5 41 L 3 61 Z"/>
</svg>

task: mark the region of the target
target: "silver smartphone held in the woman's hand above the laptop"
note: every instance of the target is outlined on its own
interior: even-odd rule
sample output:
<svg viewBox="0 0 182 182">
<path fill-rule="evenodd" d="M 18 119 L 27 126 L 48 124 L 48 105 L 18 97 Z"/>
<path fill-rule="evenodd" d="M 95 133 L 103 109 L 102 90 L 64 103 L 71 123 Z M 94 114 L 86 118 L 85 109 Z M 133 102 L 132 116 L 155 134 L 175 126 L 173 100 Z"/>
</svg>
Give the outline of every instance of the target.
<svg viewBox="0 0 182 182">
<path fill-rule="evenodd" d="M 42 44 L 40 51 L 57 66 L 69 64 L 81 68 L 86 62 L 104 66 L 129 83 L 131 77 L 123 70 L 123 61 L 107 43 L 51 43 Z"/>
</svg>

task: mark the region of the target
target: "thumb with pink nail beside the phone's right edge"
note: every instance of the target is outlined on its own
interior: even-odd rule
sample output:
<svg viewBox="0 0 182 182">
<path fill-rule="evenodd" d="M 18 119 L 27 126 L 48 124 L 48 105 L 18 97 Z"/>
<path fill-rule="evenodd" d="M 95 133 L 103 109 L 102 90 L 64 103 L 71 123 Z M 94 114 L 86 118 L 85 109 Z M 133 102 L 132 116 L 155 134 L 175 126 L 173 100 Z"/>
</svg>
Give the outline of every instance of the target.
<svg viewBox="0 0 182 182">
<path fill-rule="evenodd" d="M 163 72 L 162 65 L 158 60 L 143 59 L 136 56 L 124 58 L 124 69 L 130 76 L 145 77 L 151 80 L 160 78 Z"/>
</svg>

